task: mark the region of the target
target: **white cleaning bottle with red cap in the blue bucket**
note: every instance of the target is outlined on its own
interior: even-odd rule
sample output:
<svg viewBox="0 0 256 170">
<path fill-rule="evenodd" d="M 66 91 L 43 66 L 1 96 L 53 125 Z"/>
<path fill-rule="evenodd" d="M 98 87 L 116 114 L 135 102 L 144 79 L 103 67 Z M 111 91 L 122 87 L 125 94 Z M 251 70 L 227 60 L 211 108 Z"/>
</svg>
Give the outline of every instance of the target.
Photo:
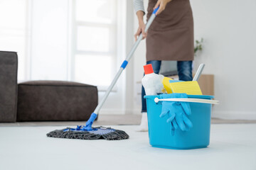
<svg viewBox="0 0 256 170">
<path fill-rule="evenodd" d="M 144 65 L 145 76 L 142 78 L 142 86 L 144 86 L 146 95 L 157 95 L 163 93 L 164 76 L 161 74 L 155 74 L 152 64 Z"/>
</svg>

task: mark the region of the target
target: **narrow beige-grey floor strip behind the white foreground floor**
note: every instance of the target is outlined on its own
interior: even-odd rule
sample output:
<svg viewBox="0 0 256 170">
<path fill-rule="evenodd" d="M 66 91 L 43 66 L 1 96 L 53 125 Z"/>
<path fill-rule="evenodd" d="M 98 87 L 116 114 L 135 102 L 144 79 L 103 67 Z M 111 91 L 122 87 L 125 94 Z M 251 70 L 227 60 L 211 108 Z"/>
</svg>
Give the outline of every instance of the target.
<svg viewBox="0 0 256 170">
<path fill-rule="evenodd" d="M 141 115 L 99 115 L 97 121 L 93 123 L 99 125 L 139 125 Z M 256 120 L 211 120 L 211 123 L 256 123 Z M 85 125 L 85 121 L 38 121 L 38 122 L 17 122 L 17 123 L 0 123 L 2 126 L 76 126 Z"/>
</svg>

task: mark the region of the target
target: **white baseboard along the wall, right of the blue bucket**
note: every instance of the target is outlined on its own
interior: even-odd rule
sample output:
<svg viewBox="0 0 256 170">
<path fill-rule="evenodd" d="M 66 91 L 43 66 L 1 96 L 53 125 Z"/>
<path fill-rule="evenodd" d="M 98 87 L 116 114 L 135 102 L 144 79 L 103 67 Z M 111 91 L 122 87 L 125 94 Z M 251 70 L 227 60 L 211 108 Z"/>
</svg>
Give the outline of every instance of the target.
<svg viewBox="0 0 256 170">
<path fill-rule="evenodd" d="M 213 111 L 212 118 L 228 120 L 256 120 L 256 112 Z"/>
</svg>

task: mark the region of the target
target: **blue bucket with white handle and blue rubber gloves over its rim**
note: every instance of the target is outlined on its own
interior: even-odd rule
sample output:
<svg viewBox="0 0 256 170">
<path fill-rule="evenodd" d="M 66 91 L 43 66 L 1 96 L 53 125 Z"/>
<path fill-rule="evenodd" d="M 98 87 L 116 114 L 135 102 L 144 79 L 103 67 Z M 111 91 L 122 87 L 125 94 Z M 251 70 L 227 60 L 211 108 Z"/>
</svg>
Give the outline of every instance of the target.
<svg viewBox="0 0 256 170">
<path fill-rule="evenodd" d="M 177 94 L 178 98 L 174 96 L 169 98 L 169 95 L 173 94 L 144 97 L 148 113 L 150 145 L 169 149 L 207 147 L 210 142 L 211 108 L 212 104 L 218 101 L 211 100 L 213 96 L 187 95 L 187 98 L 183 96 L 180 98 L 181 96 Z M 173 106 L 163 108 L 164 102 L 173 103 Z M 181 103 L 186 104 L 181 106 Z M 162 113 L 166 115 L 162 116 Z"/>
</svg>

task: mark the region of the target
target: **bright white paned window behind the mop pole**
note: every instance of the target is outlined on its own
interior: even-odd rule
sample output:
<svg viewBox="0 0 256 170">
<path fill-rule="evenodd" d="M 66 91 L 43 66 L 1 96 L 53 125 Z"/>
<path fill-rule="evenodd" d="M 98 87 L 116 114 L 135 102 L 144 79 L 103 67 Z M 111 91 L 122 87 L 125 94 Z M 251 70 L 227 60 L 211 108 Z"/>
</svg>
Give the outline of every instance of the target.
<svg viewBox="0 0 256 170">
<path fill-rule="evenodd" d="M 73 2 L 72 79 L 109 86 L 116 72 L 117 0 Z"/>
</svg>

